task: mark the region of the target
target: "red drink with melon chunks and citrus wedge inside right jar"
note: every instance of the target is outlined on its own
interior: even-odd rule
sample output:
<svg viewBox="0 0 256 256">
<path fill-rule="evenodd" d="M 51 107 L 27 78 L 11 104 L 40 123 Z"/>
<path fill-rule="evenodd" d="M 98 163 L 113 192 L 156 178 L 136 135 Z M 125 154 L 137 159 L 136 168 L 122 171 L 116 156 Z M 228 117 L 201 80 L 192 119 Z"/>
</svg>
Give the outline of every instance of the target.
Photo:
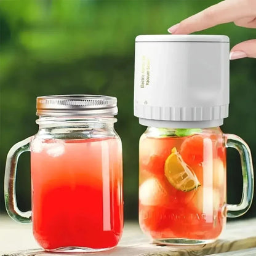
<svg viewBox="0 0 256 256">
<path fill-rule="evenodd" d="M 139 219 L 156 242 L 207 241 L 220 235 L 226 203 L 222 141 L 221 134 L 142 135 Z"/>
</svg>

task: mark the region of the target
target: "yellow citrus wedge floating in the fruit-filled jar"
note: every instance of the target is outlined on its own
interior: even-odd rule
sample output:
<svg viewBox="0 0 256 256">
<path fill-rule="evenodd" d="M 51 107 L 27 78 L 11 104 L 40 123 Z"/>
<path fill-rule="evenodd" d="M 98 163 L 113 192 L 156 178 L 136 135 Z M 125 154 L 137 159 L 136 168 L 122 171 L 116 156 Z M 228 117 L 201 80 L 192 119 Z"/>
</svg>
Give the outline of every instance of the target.
<svg viewBox="0 0 256 256">
<path fill-rule="evenodd" d="M 193 170 L 183 161 L 175 147 L 172 148 L 172 153 L 166 159 L 164 174 L 174 188 L 183 192 L 201 186 Z"/>
</svg>

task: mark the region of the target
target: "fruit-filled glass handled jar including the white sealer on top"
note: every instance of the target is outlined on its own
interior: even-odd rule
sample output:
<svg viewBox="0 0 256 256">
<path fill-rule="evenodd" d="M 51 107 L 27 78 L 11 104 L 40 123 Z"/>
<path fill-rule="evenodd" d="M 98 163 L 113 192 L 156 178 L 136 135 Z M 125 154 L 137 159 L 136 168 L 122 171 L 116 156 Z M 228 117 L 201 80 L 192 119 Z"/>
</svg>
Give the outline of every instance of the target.
<svg viewBox="0 0 256 256">
<path fill-rule="evenodd" d="M 223 134 L 228 116 L 226 36 L 138 36 L 134 113 L 139 143 L 139 222 L 159 244 L 215 241 L 226 217 L 244 214 L 254 178 L 249 147 Z M 243 193 L 226 202 L 226 148 L 239 151 Z M 233 170 L 236 171 L 236 170 Z"/>
</svg>

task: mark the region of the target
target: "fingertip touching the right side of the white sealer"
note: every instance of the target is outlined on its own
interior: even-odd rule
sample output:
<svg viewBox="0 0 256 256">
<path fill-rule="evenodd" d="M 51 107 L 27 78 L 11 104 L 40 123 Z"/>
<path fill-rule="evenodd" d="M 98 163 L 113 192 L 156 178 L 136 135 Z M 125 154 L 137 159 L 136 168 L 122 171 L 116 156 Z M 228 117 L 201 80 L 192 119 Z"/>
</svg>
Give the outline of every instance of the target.
<svg viewBox="0 0 256 256">
<path fill-rule="evenodd" d="M 256 58 L 256 39 L 241 42 L 230 51 L 230 60 L 245 57 Z"/>
</svg>

